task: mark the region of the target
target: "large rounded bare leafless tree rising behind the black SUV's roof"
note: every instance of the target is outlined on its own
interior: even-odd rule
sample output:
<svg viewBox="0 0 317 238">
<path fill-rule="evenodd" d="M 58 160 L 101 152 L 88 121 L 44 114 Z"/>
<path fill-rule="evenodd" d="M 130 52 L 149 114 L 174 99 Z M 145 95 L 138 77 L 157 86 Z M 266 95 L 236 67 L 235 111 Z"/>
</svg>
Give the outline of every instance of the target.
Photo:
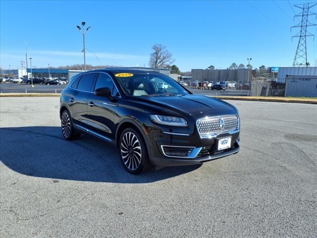
<svg viewBox="0 0 317 238">
<path fill-rule="evenodd" d="M 153 53 L 150 55 L 150 66 L 154 68 L 164 68 L 172 64 L 175 60 L 172 58 L 172 54 L 166 50 L 166 46 L 161 44 L 153 45 Z"/>
</svg>

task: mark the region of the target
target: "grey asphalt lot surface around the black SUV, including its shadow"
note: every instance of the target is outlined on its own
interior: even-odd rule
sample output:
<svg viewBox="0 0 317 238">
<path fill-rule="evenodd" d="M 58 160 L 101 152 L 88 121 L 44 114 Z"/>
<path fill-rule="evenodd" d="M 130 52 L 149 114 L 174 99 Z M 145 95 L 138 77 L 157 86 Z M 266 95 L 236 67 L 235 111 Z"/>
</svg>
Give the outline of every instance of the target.
<svg viewBox="0 0 317 238">
<path fill-rule="evenodd" d="M 317 237 L 317 105 L 229 103 L 238 154 L 133 176 L 59 98 L 0 97 L 0 237 Z"/>
</svg>

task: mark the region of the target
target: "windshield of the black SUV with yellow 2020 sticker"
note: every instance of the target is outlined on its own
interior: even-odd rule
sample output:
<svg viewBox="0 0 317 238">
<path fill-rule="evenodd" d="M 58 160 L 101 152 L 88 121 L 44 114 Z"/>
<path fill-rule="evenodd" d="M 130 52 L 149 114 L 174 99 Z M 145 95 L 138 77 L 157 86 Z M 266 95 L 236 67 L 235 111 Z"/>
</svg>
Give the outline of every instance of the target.
<svg viewBox="0 0 317 238">
<path fill-rule="evenodd" d="M 190 94 L 172 78 L 163 74 L 117 73 L 115 77 L 123 91 L 129 96 L 183 96 Z"/>
</svg>

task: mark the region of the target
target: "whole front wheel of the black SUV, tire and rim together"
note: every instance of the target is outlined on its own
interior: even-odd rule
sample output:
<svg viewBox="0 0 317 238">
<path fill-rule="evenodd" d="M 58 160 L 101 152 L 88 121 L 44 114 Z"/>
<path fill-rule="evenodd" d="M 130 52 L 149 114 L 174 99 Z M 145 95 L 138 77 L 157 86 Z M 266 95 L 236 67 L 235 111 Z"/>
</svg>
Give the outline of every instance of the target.
<svg viewBox="0 0 317 238">
<path fill-rule="evenodd" d="M 144 138 L 134 128 L 128 127 L 121 133 L 119 153 L 123 167 L 131 174 L 137 175 L 152 168 Z"/>
</svg>

